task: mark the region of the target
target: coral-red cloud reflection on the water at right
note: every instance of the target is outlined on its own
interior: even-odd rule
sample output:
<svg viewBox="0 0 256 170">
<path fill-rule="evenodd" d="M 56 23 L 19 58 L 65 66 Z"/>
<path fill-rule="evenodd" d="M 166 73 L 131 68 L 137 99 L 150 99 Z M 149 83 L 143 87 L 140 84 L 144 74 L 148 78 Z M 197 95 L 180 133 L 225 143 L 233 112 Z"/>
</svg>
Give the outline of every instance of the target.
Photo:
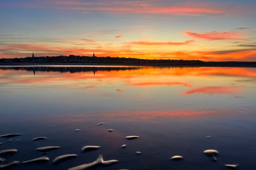
<svg viewBox="0 0 256 170">
<path fill-rule="evenodd" d="M 243 86 L 209 86 L 209 87 L 200 87 L 191 90 L 187 90 L 182 94 L 194 94 L 194 93 L 205 93 L 205 94 L 237 94 Z"/>
</svg>

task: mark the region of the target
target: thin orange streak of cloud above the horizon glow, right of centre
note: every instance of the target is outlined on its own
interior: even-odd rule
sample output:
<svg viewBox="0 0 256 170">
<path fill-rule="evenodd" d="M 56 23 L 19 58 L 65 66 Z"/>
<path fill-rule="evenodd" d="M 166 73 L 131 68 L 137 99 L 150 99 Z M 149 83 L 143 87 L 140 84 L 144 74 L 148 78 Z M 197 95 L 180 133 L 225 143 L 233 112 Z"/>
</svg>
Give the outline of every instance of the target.
<svg viewBox="0 0 256 170">
<path fill-rule="evenodd" d="M 136 44 L 136 45 L 187 45 L 190 43 L 195 42 L 194 40 L 187 40 L 183 42 L 153 42 L 153 41 L 132 41 L 128 42 L 130 44 Z"/>
</svg>

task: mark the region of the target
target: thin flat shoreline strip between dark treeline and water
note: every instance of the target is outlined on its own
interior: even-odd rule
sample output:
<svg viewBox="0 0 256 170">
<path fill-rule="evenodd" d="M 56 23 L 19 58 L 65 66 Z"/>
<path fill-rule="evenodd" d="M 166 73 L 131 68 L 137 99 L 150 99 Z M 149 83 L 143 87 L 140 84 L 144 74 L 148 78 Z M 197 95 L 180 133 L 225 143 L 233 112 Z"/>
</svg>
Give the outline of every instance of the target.
<svg viewBox="0 0 256 170">
<path fill-rule="evenodd" d="M 0 63 L 0 66 L 152 66 L 152 67 L 250 67 L 255 68 L 256 62 L 209 62 L 194 63 L 155 63 L 155 64 L 124 64 L 124 63 Z"/>
</svg>

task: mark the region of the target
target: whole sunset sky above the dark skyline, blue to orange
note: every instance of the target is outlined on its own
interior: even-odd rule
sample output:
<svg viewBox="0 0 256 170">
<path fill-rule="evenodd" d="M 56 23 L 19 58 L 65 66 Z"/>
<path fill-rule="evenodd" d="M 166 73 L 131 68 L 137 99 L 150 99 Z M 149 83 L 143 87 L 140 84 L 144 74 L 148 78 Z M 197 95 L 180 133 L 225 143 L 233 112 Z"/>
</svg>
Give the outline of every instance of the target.
<svg viewBox="0 0 256 170">
<path fill-rule="evenodd" d="M 256 61 L 254 0 L 0 1 L 0 58 Z"/>
</svg>

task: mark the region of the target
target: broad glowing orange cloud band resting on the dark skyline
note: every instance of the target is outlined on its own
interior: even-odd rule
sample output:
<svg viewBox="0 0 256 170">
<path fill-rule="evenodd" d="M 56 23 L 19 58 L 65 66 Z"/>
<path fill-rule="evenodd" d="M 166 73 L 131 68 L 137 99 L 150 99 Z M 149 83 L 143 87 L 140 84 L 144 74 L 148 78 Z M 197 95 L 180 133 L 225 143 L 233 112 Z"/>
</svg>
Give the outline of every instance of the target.
<svg viewBox="0 0 256 170">
<path fill-rule="evenodd" d="M 0 58 L 15 58 L 31 56 L 32 51 L 38 56 L 58 56 L 58 55 L 84 55 L 91 56 L 93 52 L 97 56 L 121 56 L 135 57 L 143 59 L 183 59 L 183 60 L 203 60 L 203 61 L 256 61 L 256 50 L 251 48 L 242 48 L 221 51 L 170 51 L 154 48 L 142 50 L 139 45 L 186 45 L 192 43 L 193 40 L 183 42 L 146 42 L 134 41 L 126 42 L 125 45 L 96 46 L 91 45 L 82 48 L 77 45 L 56 45 L 45 43 L 15 43 L 5 44 L 0 50 Z M 134 44 L 134 45 L 133 45 Z M 138 46 L 136 46 L 138 45 Z M 137 47 L 137 48 L 136 48 Z M 167 46 L 166 46 L 167 47 Z M 242 46 L 243 47 L 243 46 Z M 240 48 L 240 49 L 239 49 Z"/>
</svg>

